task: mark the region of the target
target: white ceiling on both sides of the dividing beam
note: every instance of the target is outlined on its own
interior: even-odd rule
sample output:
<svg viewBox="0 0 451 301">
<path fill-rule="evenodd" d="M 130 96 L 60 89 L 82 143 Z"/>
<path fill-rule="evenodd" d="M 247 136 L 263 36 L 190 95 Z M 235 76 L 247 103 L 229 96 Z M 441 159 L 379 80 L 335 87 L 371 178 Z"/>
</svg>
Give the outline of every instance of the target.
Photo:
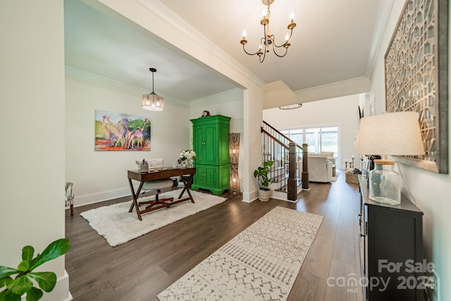
<svg viewBox="0 0 451 301">
<path fill-rule="evenodd" d="M 86 1 L 89 2 L 89 1 Z M 240 63 L 263 82 L 283 80 L 291 90 L 369 78 L 378 34 L 390 13 L 390 0 L 276 0 L 271 4 L 271 32 L 276 43 L 285 38 L 290 12 L 295 13 L 287 56 L 272 52 L 264 63 L 242 50 L 257 51 L 263 36 L 261 0 L 137 0 L 145 7 L 166 6 L 180 20 Z M 106 16 L 80 1 L 65 1 L 66 66 L 186 101 L 239 87 L 233 80 L 187 56 L 151 33 Z M 174 22 L 174 20 L 172 20 Z M 254 47 L 254 48 L 252 48 Z M 208 85 L 205 83 L 208 82 Z"/>
</svg>

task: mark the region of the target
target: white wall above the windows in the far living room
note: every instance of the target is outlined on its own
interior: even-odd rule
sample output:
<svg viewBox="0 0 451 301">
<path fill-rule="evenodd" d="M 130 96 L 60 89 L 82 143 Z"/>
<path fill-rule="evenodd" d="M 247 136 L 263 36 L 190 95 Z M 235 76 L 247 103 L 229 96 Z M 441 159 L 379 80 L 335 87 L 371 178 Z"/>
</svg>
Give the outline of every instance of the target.
<svg viewBox="0 0 451 301">
<path fill-rule="evenodd" d="M 345 168 L 345 159 L 352 154 L 358 157 L 354 149 L 354 140 L 359 124 L 359 94 L 346 97 L 306 102 L 302 108 L 280 110 L 278 108 L 263 111 L 263 120 L 278 130 L 316 126 L 339 127 L 339 158 L 337 168 Z M 360 166 L 359 160 L 354 162 Z"/>
</svg>

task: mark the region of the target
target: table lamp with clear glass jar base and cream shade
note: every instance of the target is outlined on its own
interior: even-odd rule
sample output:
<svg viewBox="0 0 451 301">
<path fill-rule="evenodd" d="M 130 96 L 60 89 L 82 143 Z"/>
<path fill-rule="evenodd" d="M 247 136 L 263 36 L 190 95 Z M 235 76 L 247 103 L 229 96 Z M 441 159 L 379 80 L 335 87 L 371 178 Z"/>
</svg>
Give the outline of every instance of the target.
<svg viewBox="0 0 451 301">
<path fill-rule="evenodd" d="M 400 174 L 393 171 L 394 160 L 386 155 L 424 154 L 416 112 L 383 113 L 360 119 L 356 137 L 359 154 L 378 154 L 375 169 L 369 172 L 369 199 L 383 204 L 401 203 Z"/>
</svg>

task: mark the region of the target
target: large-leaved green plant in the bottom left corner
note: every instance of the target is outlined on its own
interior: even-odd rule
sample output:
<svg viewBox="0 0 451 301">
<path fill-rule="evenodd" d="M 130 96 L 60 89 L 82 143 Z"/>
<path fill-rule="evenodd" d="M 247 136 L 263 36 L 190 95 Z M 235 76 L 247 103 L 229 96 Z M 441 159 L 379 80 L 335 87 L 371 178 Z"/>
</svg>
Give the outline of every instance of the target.
<svg viewBox="0 0 451 301">
<path fill-rule="evenodd" d="M 55 288 L 56 274 L 51 271 L 34 272 L 44 262 L 49 262 L 56 257 L 68 252 L 70 241 L 66 238 L 55 240 L 48 245 L 42 254 L 33 258 L 35 248 L 26 245 L 22 249 L 22 261 L 17 269 L 8 266 L 0 266 L 0 301 L 20 301 L 20 296 L 27 294 L 27 301 L 35 301 L 42 298 L 45 292 L 49 293 Z M 11 277 L 16 275 L 15 278 Z M 32 280 L 36 281 L 39 288 L 35 288 Z M 2 290 L 3 289 L 3 290 Z"/>
</svg>

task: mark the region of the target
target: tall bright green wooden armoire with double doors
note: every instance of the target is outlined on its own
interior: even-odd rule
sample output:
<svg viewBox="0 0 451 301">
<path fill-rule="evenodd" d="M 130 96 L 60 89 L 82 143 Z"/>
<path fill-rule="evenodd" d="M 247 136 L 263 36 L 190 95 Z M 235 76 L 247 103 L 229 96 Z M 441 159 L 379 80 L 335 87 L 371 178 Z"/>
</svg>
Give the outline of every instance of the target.
<svg viewBox="0 0 451 301">
<path fill-rule="evenodd" d="M 202 188 L 221 195 L 228 190 L 230 180 L 230 117 L 205 116 L 191 119 L 191 122 L 192 149 L 196 152 L 196 174 L 191 188 Z"/>
</svg>

